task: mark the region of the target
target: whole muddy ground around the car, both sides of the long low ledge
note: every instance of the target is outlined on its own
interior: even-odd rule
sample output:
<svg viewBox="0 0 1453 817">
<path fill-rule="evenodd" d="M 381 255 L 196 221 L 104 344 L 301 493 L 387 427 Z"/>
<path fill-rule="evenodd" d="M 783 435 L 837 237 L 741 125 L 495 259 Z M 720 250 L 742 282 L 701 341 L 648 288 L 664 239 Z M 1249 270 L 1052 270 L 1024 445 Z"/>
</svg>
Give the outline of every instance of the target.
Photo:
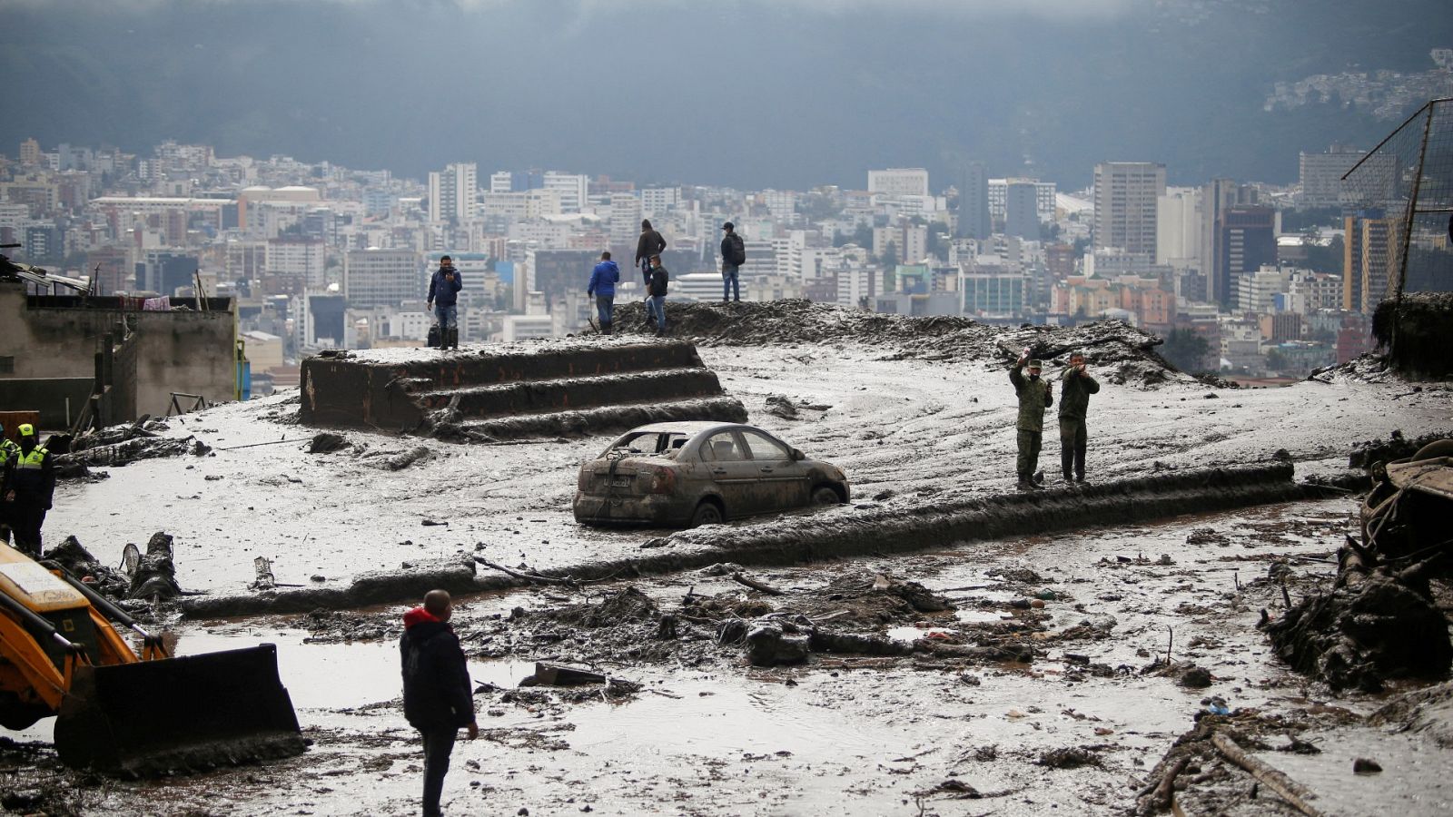
<svg viewBox="0 0 1453 817">
<path fill-rule="evenodd" d="M 700 346 L 702 358 L 751 422 L 849 472 L 853 503 L 812 513 L 907 516 L 1011 493 L 1014 397 L 1001 361 L 1032 343 L 1032 330 L 944 324 L 926 340 L 889 321 L 833 336 L 815 324 L 793 331 L 801 315 L 785 313 L 770 324 L 772 345 L 756 346 L 744 343 L 742 315 L 708 317 L 702 334 L 718 340 Z M 712 327 L 716 334 L 706 334 Z M 1104 385 L 1090 410 L 1096 483 L 1273 459 L 1292 461 L 1298 478 L 1340 477 L 1363 440 L 1453 429 L 1447 384 L 1332 372 L 1329 382 L 1235 390 L 1165 372 L 1136 336 L 1117 337 L 1109 333 L 1104 353 L 1091 355 Z M 46 541 L 76 535 L 116 564 L 126 542 L 166 531 L 177 583 L 202 597 L 253 593 L 259 555 L 282 589 L 334 589 L 368 571 L 472 555 L 568 573 L 689 552 L 700 538 L 574 523 L 575 468 L 606 438 L 456 445 L 343 432 L 309 452 L 318 429 L 296 423 L 288 394 L 150 429 L 186 440 L 176 446 L 183 454 L 93 465 L 87 480 L 64 483 Z M 1046 436 L 1040 464 L 1053 478 L 1058 451 Z M 910 555 L 481 595 L 456 624 L 474 657 L 484 734 L 456 750 L 446 807 L 1126 813 L 1196 715 L 1221 701 L 1228 718 L 1261 724 L 1247 727 L 1252 736 L 1283 734 L 1283 723 L 1321 734 L 1373 730 L 1364 717 L 1415 686 L 1334 696 L 1282 666 L 1254 629 L 1263 608 L 1284 605 L 1280 586 L 1266 580 L 1270 566 L 1290 566 L 1293 599 L 1325 581 L 1354 507 L 1343 494 Z M 722 532 L 751 538 L 785 528 L 772 516 Z M 732 577 L 738 568 L 783 595 L 747 589 Z M 394 643 L 402 609 L 201 621 L 163 606 L 155 618 L 180 634 L 183 653 L 276 643 L 312 749 L 266 768 L 129 784 L 60 769 L 42 721 L 0 744 L 0 805 L 51 814 L 413 813 L 420 757 L 400 711 Z M 769 624 L 764 616 L 786 629 L 779 657 L 805 643 L 804 663 L 751 664 L 735 635 Z M 519 689 L 536 660 L 587 664 L 619 683 Z M 1187 676 L 1209 686 L 1186 686 Z M 1248 749 L 1292 757 L 1271 754 L 1280 738 L 1258 740 Z M 1335 768 L 1298 773 L 1386 789 L 1386 807 L 1408 814 L 1447 808 L 1441 781 L 1418 778 L 1446 749 L 1388 756 L 1396 759 L 1383 778 L 1341 773 L 1332 752 L 1322 757 Z M 1315 763 L 1306 757 L 1295 762 Z M 1396 781 L 1425 782 L 1382 785 L 1393 770 Z M 1354 805 L 1328 813 L 1361 813 L 1356 785 L 1345 795 Z M 1273 808 L 1238 802 L 1247 814 Z"/>
</svg>

